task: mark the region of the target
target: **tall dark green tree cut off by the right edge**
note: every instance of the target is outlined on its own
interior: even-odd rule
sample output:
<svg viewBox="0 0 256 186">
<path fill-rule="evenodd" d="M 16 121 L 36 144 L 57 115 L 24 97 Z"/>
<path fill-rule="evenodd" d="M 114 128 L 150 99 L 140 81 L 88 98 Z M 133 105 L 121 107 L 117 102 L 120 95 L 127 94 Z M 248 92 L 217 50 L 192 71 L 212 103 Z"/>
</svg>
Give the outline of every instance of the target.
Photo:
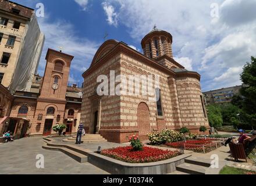
<svg viewBox="0 0 256 186">
<path fill-rule="evenodd" d="M 243 67 L 241 81 L 248 85 L 241 89 L 241 95 L 244 96 L 242 109 L 247 114 L 248 122 L 256 123 L 256 58 L 251 57 L 251 62 Z"/>
</svg>

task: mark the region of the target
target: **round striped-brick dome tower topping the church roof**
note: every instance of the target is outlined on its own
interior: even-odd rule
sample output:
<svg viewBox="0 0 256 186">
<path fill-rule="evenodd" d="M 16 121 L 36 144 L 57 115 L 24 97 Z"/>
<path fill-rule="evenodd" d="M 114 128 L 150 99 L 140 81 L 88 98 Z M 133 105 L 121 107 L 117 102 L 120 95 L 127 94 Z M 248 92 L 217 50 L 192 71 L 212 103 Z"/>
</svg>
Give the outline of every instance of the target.
<svg viewBox="0 0 256 186">
<path fill-rule="evenodd" d="M 172 35 L 164 30 L 159 30 L 155 26 L 141 41 L 144 55 L 148 58 L 158 58 L 166 55 L 173 58 L 172 55 Z"/>
</svg>

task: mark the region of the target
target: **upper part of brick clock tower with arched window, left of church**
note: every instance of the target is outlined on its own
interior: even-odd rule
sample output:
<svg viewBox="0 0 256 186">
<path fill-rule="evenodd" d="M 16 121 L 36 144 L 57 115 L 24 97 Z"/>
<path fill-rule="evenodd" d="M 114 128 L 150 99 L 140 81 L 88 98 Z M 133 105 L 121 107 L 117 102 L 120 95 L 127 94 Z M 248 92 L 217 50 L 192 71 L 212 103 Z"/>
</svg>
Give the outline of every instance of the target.
<svg viewBox="0 0 256 186">
<path fill-rule="evenodd" d="M 44 79 L 39 98 L 65 101 L 69 70 L 73 56 L 48 49 Z"/>
</svg>

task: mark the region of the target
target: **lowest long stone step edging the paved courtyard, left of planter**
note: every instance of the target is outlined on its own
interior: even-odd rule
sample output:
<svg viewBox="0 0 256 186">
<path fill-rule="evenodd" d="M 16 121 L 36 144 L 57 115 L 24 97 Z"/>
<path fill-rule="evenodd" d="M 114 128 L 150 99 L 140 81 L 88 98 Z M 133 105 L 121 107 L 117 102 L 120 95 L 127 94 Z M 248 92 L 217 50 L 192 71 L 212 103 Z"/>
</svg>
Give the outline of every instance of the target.
<svg viewBox="0 0 256 186">
<path fill-rule="evenodd" d="M 86 155 L 83 155 L 76 151 L 72 151 L 72 149 L 69 149 L 69 148 L 60 147 L 60 146 L 49 146 L 47 144 L 47 142 L 44 142 L 44 144 L 42 145 L 42 148 L 47 149 L 47 150 L 52 150 L 52 151 L 61 151 L 79 163 L 88 162 L 88 158 Z"/>
</svg>

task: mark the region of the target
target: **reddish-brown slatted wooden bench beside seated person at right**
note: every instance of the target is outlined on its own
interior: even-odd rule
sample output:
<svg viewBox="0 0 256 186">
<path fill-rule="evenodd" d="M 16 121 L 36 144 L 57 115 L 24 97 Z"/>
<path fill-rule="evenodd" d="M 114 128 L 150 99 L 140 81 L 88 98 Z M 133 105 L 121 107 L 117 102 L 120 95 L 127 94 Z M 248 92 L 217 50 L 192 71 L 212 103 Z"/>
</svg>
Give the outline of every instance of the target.
<svg viewBox="0 0 256 186">
<path fill-rule="evenodd" d="M 231 142 L 229 143 L 229 148 L 234 160 L 237 161 L 238 159 L 245 159 L 247 162 L 247 156 L 246 156 L 244 144 L 234 144 L 233 142 Z"/>
</svg>

